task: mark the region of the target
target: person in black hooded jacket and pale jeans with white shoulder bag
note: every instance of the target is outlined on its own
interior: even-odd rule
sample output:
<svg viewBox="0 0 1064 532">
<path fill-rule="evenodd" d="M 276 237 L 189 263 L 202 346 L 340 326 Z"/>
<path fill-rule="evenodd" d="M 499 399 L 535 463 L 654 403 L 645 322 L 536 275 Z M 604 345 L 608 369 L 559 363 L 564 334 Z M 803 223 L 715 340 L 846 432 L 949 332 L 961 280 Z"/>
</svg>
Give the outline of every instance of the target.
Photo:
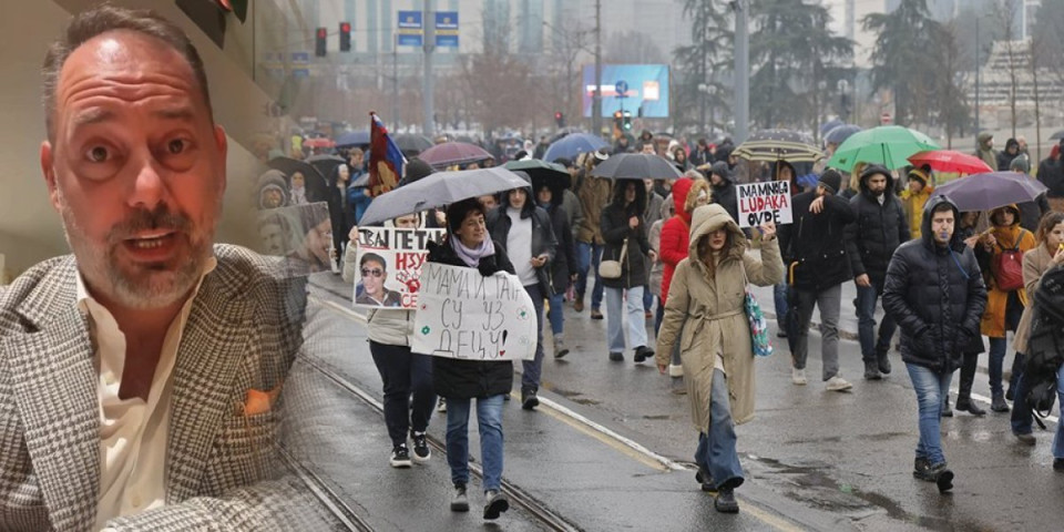
<svg viewBox="0 0 1064 532">
<path fill-rule="evenodd" d="M 646 347 L 646 316 L 643 314 L 643 289 L 649 280 L 647 256 L 656 258 L 647 238 L 649 228 L 643 219 L 646 186 L 640 180 L 618 180 L 613 187 L 613 202 L 602 209 L 600 227 L 605 247 L 603 260 L 621 260 L 621 278 L 602 279 L 606 295 L 606 341 L 610 360 L 624 360 L 624 330 L 622 316 L 628 315 L 628 341 L 635 347 L 635 361 L 654 356 Z M 621 250 L 627 241 L 627 255 Z M 653 260 L 653 258 L 652 258 Z M 627 299 L 624 300 L 624 291 Z M 625 309 L 622 310 L 622 305 Z"/>
</svg>

